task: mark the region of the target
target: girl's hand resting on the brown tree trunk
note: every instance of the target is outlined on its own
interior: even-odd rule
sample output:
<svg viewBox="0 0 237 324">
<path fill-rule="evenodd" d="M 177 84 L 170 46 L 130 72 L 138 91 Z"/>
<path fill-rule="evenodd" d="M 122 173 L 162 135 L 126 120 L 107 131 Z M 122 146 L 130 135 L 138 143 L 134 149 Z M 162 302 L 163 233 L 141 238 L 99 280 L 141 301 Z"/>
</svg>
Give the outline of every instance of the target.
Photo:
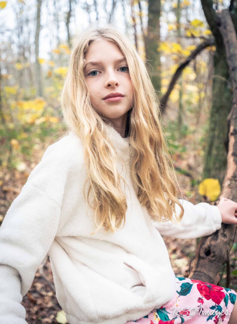
<svg viewBox="0 0 237 324">
<path fill-rule="evenodd" d="M 237 225 L 237 203 L 231 199 L 221 197 L 217 204 L 219 208 L 222 223 Z"/>
</svg>

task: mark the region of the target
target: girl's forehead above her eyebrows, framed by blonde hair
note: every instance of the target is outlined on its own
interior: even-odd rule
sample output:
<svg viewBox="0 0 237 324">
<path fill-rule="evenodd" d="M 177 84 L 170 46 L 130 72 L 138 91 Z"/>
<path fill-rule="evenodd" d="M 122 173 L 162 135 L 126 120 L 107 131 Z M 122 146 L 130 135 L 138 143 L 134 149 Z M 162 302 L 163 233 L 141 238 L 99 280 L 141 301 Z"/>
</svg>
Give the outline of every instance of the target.
<svg viewBox="0 0 237 324">
<path fill-rule="evenodd" d="M 112 41 L 99 39 L 93 41 L 85 54 L 86 63 L 90 60 L 101 61 L 101 60 L 116 60 L 123 58 L 124 55 L 120 48 Z"/>
</svg>

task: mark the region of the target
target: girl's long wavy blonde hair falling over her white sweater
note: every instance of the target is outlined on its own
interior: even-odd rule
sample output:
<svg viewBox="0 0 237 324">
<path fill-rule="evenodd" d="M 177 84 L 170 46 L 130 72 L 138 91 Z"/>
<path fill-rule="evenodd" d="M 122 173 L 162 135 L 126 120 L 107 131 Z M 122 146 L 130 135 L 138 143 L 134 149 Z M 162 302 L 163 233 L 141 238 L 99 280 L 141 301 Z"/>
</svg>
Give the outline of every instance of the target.
<svg viewBox="0 0 237 324">
<path fill-rule="evenodd" d="M 108 122 L 92 107 L 85 82 L 85 54 L 90 43 L 98 39 L 115 43 L 127 60 L 134 89 L 129 136 L 135 149 L 131 175 L 138 186 L 137 198 L 147 207 L 152 219 L 172 220 L 174 213 L 179 221 L 184 214 L 177 198 L 181 190 L 163 135 L 159 100 L 145 64 L 128 38 L 113 26 L 92 26 L 74 38 L 61 106 L 68 129 L 77 133 L 84 143 L 89 191 L 92 190 L 94 197 L 95 223 L 99 223 L 97 230 L 114 232 L 122 222 L 125 224 L 127 210 L 121 187 L 124 179 L 116 168 L 115 148 L 106 127 Z M 179 219 L 175 203 L 181 208 Z"/>
</svg>

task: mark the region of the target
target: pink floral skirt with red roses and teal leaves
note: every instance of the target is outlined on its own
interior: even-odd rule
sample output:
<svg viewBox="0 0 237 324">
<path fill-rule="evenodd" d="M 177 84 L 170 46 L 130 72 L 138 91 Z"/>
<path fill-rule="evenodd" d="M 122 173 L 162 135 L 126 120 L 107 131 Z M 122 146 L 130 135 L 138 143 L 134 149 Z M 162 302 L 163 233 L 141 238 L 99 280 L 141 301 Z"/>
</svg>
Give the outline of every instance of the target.
<svg viewBox="0 0 237 324">
<path fill-rule="evenodd" d="M 176 288 L 168 303 L 126 324 L 228 323 L 236 300 L 234 290 L 183 277 L 176 277 Z"/>
</svg>

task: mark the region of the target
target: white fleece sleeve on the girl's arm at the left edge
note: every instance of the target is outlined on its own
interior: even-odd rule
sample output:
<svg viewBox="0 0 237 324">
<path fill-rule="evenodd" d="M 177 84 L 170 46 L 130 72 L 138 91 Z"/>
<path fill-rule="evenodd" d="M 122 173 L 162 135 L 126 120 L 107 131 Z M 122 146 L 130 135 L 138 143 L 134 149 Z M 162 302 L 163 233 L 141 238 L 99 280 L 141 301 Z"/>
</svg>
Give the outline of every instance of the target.
<svg viewBox="0 0 237 324">
<path fill-rule="evenodd" d="M 27 323 L 20 303 L 57 233 L 67 179 L 57 151 L 55 144 L 47 148 L 0 227 L 1 324 Z"/>
</svg>

